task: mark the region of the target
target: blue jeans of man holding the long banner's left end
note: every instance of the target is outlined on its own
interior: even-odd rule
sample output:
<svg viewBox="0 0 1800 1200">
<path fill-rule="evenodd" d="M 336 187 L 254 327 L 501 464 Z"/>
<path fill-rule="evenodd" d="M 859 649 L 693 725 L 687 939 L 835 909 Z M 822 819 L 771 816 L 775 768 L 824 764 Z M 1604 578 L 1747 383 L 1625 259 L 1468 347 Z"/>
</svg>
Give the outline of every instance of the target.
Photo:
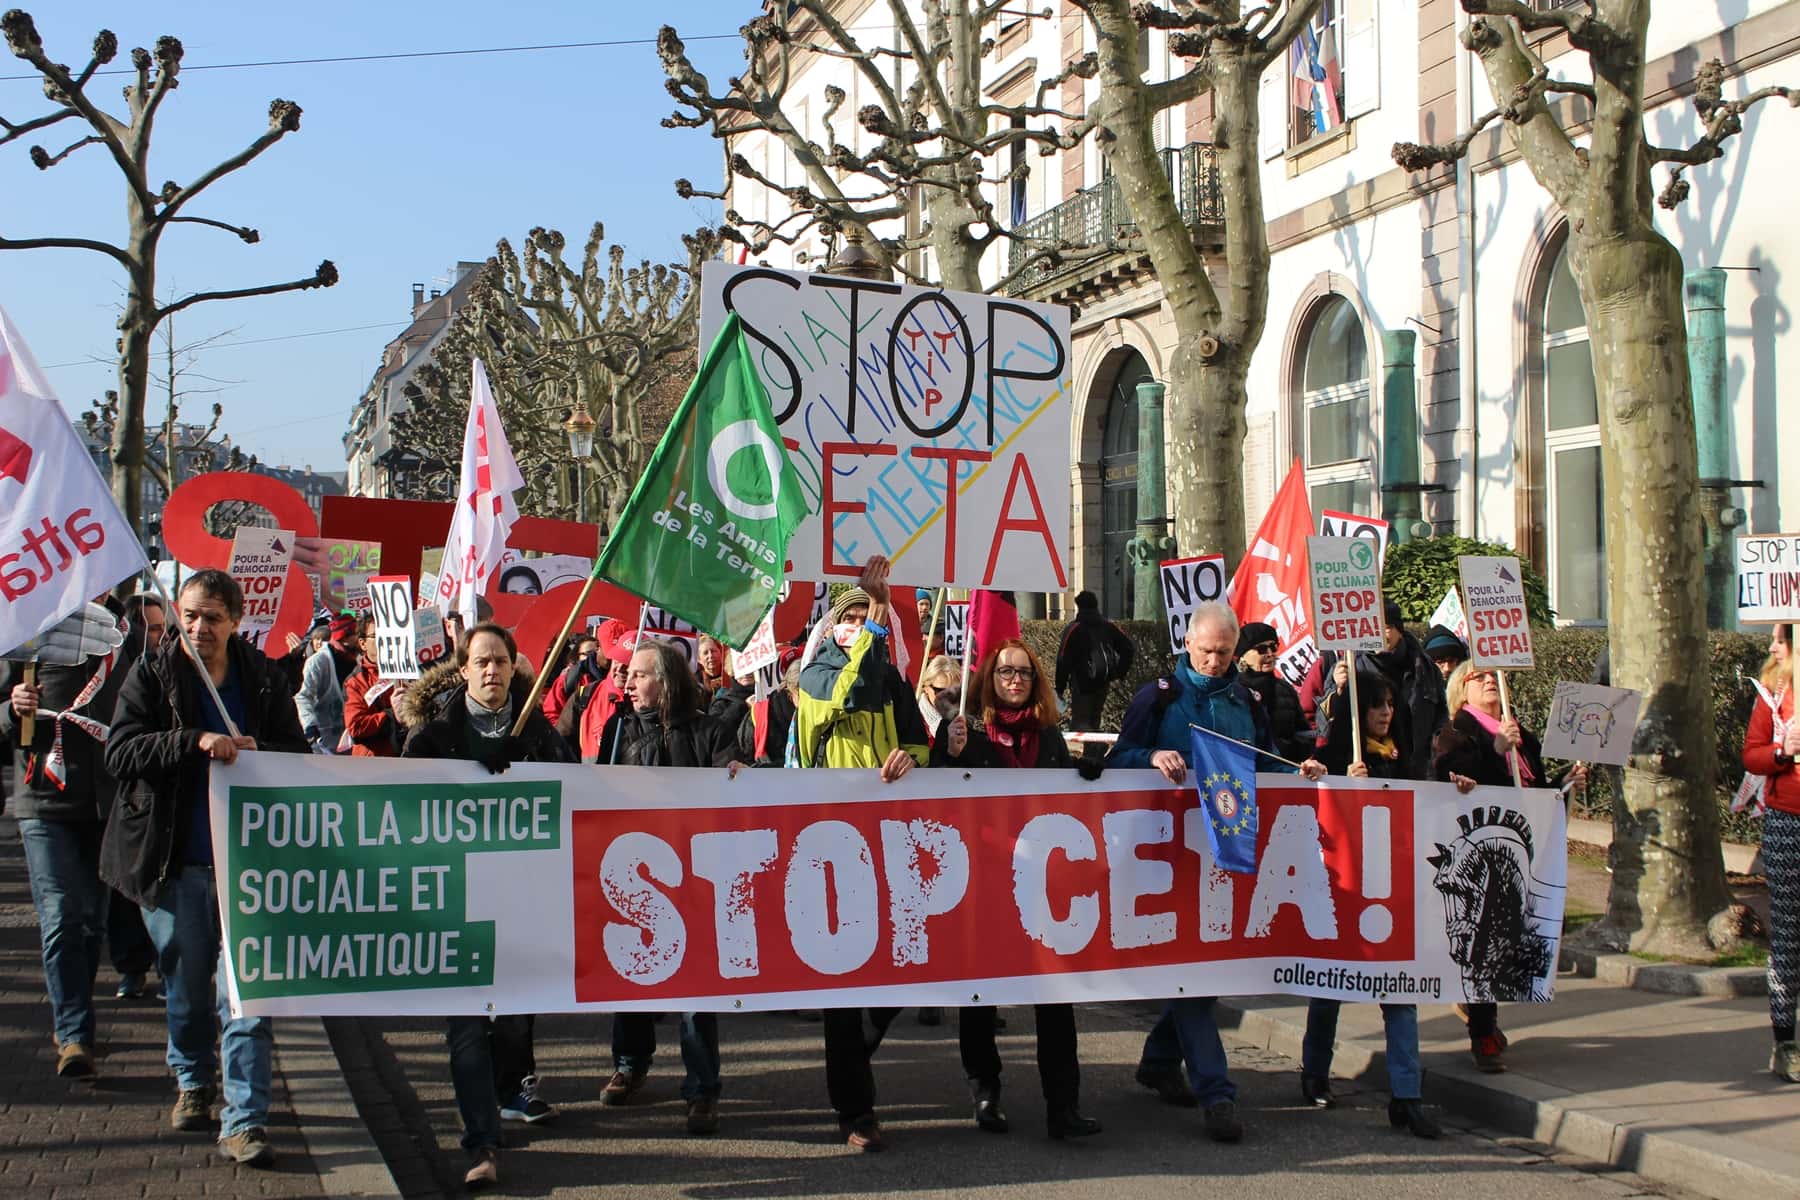
<svg viewBox="0 0 1800 1200">
<path fill-rule="evenodd" d="M 169 1069 L 176 1083 L 184 1092 L 212 1087 L 223 1060 L 220 1135 L 266 1128 L 275 1036 L 266 1016 L 230 1015 L 212 867 L 185 865 L 171 874 L 157 907 L 144 909 L 144 928 L 157 943 L 169 1018 Z"/>
</svg>

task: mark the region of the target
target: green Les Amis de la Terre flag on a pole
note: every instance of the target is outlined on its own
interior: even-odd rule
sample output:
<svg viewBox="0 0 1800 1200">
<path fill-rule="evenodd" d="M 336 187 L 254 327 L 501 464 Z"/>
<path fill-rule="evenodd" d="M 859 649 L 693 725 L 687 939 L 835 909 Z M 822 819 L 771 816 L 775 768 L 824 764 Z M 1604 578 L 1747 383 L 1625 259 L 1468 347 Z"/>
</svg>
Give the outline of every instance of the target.
<svg viewBox="0 0 1800 1200">
<path fill-rule="evenodd" d="M 594 574 L 742 649 L 781 594 L 806 516 L 736 313 L 650 455 Z"/>
</svg>

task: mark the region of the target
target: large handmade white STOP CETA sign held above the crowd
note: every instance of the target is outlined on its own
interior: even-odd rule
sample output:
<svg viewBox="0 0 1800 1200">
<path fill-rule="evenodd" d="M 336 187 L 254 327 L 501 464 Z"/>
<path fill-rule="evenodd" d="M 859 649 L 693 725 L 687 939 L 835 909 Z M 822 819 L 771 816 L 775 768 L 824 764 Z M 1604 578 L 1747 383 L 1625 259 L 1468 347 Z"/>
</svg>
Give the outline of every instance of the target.
<svg viewBox="0 0 1800 1200">
<path fill-rule="evenodd" d="M 796 578 L 886 554 L 916 587 L 1069 587 L 1067 308 L 727 263 L 700 295 L 702 345 L 742 320 L 806 491 Z"/>
</svg>

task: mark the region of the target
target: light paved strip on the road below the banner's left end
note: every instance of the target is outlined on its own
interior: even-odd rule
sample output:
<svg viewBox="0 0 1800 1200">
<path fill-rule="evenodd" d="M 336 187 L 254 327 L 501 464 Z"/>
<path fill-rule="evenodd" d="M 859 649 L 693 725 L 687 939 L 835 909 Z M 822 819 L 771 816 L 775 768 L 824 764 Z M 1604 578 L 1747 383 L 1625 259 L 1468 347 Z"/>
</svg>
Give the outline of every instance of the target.
<svg viewBox="0 0 1800 1200">
<path fill-rule="evenodd" d="M 400 1200 L 400 1187 L 344 1085 L 320 1018 L 281 1020 L 275 1069 L 288 1087 L 293 1119 L 319 1168 L 324 1195 Z"/>
</svg>

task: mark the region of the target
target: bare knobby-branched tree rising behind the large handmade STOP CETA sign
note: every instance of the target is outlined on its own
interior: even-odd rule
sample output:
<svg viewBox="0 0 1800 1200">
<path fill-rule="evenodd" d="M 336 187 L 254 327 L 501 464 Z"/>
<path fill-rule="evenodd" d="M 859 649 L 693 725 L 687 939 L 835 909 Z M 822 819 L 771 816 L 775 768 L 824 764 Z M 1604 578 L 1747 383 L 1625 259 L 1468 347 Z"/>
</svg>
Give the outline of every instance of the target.
<svg viewBox="0 0 1800 1200">
<path fill-rule="evenodd" d="M 1028 173 L 1021 162 L 1006 171 L 995 166 L 1013 146 L 1035 146 L 1040 155 L 1076 146 L 1091 119 L 1046 103 L 1069 77 L 1093 77 L 1093 56 L 1067 63 L 1037 83 L 1033 99 L 1019 104 L 994 101 L 983 86 L 983 63 L 994 54 L 988 36 L 1006 4 L 1021 0 L 931 0 L 923 23 L 914 0 L 886 0 L 893 38 L 864 45 L 833 9 L 837 0 L 792 0 L 743 25 L 745 72 L 715 92 L 688 59 L 675 29 L 657 38 L 666 86 L 677 112 L 662 121 L 670 128 L 706 128 L 725 146 L 725 175 L 758 184 L 787 201 L 787 216 L 749 219 L 725 212 L 727 241 L 761 254 L 769 246 L 799 245 L 812 234 L 826 237 L 855 230 L 895 272 L 922 282 L 961 291 L 1003 291 L 1046 263 L 1080 263 L 1111 255 L 1118 246 L 1102 236 L 1094 245 L 1030 237 L 1008 228 L 1010 214 L 994 210 L 988 189 Z M 837 85 L 819 90 L 819 128 L 824 140 L 808 137 L 796 121 L 801 79 L 823 61 L 842 61 L 875 99 L 844 113 L 848 95 Z M 857 151 L 850 133 L 855 122 L 873 144 Z M 842 140 L 841 133 L 842 131 Z M 742 153 L 731 139 L 765 133 L 778 140 L 801 180 L 776 184 Z M 680 196 L 724 200 L 725 193 L 697 189 L 677 180 Z M 907 219 L 923 209 L 923 221 L 907 230 Z M 898 232 L 896 232 L 898 230 Z M 997 279 L 981 279 L 981 259 L 995 243 L 1022 243 L 1026 254 L 1012 255 L 1013 266 Z M 913 252 L 929 250 L 931 261 L 914 264 Z"/>
</svg>

